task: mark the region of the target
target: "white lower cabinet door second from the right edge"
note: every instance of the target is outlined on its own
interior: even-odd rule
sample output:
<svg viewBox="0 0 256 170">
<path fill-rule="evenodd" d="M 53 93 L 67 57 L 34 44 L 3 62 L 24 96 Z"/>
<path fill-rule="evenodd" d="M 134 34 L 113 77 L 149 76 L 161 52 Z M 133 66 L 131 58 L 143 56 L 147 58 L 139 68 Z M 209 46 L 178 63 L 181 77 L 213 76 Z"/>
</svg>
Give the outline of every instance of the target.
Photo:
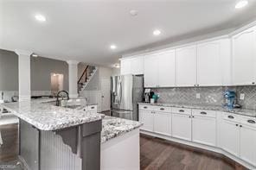
<svg viewBox="0 0 256 170">
<path fill-rule="evenodd" d="M 222 148 L 230 154 L 239 156 L 240 128 L 236 124 L 237 123 L 224 120 L 222 123 L 221 138 Z"/>
</svg>

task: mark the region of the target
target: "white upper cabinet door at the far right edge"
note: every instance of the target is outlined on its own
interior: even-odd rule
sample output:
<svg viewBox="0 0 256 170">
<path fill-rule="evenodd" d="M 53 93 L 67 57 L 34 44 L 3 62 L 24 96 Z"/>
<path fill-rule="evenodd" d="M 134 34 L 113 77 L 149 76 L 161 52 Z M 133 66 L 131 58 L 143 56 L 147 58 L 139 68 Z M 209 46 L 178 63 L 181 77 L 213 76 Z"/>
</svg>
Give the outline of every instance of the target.
<svg viewBox="0 0 256 170">
<path fill-rule="evenodd" d="M 234 85 L 255 83 L 255 35 L 255 28 L 249 28 L 232 38 Z"/>
</svg>

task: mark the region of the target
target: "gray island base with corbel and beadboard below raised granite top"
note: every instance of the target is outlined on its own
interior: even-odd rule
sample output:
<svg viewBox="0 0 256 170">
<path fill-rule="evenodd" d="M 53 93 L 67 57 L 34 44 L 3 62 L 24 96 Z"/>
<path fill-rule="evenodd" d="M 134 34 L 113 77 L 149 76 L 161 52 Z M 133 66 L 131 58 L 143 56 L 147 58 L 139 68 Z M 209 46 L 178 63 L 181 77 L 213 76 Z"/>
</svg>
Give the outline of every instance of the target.
<svg viewBox="0 0 256 170">
<path fill-rule="evenodd" d="M 80 169 L 80 163 L 83 170 L 99 170 L 101 127 L 102 121 L 99 120 L 66 129 L 45 131 L 20 119 L 19 153 L 25 160 L 23 163 L 31 170 Z M 50 149 L 56 147 L 64 149 Z M 63 153 L 64 151 L 67 153 Z M 63 164 L 58 161 L 69 161 L 71 157 L 80 157 L 81 162 L 77 162 L 77 165 L 66 162 L 64 165 L 68 167 L 60 167 Z"/>
</svg>

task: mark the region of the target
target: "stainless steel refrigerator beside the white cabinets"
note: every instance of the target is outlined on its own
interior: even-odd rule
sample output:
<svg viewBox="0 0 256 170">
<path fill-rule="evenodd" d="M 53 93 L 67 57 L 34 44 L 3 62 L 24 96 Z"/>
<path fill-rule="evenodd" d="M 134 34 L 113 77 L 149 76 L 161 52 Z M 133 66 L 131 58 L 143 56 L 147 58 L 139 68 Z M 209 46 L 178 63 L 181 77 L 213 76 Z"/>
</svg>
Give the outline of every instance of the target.
<svg viewBox="0 0 256 170">
<path fill-rule="evenodd" d="M 138 121 L 138 103 L 143 101 L 143 76 L 111 78 L 111 115 Z"/>
</svg>

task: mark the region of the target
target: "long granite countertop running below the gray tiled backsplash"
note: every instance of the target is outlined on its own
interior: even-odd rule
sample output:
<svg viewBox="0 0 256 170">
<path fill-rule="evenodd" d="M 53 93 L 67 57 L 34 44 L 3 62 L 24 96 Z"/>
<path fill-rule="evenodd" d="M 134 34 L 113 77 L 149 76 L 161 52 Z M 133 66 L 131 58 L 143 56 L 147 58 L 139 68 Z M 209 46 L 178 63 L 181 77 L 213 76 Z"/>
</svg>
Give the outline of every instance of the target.
<svg viewBox="0 0 256 170">
<path fill-rule="evenodd" d="M 241 116 L 253 116 L 256 117 L 256 110 L 242 110 L 242 109 L 227 109 L 226 107 L 220 105 L 207 105 L 207 104 L 165 104 L 165 103 L 138 103 L 138 104 L 147 104 L 147 105 L 156 105 L 156 106 L 165 106 L 165 107 L 180 107 L 180 108 L 189 108 L 195 110 L 219 110 L 229 113 L 238 114 Z"/>
</svg>

